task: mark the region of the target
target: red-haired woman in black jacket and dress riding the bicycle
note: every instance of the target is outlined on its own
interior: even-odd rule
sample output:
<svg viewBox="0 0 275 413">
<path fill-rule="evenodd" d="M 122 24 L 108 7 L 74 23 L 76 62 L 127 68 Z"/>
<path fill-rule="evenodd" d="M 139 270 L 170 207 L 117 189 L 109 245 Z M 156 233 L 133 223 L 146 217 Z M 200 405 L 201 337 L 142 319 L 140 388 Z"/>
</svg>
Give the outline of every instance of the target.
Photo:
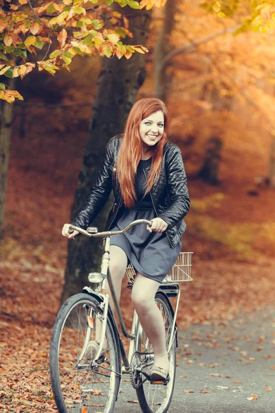
<svg viewBox="0 0 275 413">
<path fill-rule="evenodd" d="M 119 299 L 128 262 L 135 268 L 132 301 L 154 348 L 154 380 L 166 379 L 169 370 L 164 322 L 155 293 L 181 251 L 183 218 L 190 206 L 181 152 L 167 140 L 168 120 L 162 100 L 145 98 L 133 105 L 123 138 L 116 136 L 107 145 L 96 184 L 73 222 L 87 229 L 111 189 L 115 202 L 106 230 L 123 229 L 139 218 L 151 221 L 151 226 L 137 225 L 124 235 L 111 237 L 110 273 Z M 62 233 L 71 240 L 78 235 L 77 231 L 69 233 L 69 224 Z"/>
</svg>

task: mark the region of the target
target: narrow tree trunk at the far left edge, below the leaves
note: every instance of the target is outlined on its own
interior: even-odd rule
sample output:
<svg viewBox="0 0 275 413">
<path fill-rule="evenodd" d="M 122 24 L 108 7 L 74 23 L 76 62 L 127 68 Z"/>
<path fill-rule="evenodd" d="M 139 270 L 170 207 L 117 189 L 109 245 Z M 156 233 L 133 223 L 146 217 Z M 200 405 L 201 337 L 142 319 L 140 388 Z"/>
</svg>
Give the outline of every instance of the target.
<svg viewBox="0 0 275 413">
<path fill-rule="evenodd" d="M 5 83 L 8 79 L 5 78 Z M 9 82 L 12 88 L 13 81 Z M 3 237 L 3 215 L 5 210 L 5 187 L 8 174 L 10 134 L 12 131 L 12 104 L 0 100 L 0 240 Z"/>
</svg>

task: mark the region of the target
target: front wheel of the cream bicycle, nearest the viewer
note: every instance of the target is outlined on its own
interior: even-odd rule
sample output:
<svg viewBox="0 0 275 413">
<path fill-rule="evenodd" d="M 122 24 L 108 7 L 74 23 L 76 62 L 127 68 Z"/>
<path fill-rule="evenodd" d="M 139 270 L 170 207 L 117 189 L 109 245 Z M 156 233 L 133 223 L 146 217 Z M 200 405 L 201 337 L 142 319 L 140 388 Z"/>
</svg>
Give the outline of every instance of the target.
<svg viewBox="0 0 275 413">
<path fill-rule="evenodd" d="M 50 377 L 58 412 L 113 412 L 121 363 L 111 317 L 104 350 L 95 362 L 101 329 L 102 309 L 96 297 L 76 294 L 59 310 L 50 342 Z"/>
</svg>

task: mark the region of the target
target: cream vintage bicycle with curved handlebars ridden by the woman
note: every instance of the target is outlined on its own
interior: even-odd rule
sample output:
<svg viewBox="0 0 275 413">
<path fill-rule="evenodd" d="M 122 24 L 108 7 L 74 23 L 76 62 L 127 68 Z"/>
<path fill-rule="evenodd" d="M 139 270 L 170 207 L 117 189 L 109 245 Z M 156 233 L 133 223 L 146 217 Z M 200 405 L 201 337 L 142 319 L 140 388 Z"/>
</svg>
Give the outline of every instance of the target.
<svg viewBox="0 0 275 413">
<path fill-rule="evenodd" d="M 89 274 L 89 282 L 93 288 L 85 286 L 82 293 L 73 295 L 65 301 L 56 316 L 52 330 L 50 378 L 58 412 L 113 412 L 122 374 L 130 374 L 131 384 L 137 392 L 142 412 L 165 413 L 168 410 L 175 385 L 179 282 L 192 280 L 192 253 L 180 253 L 177 262 L 155 295 L 155 302 L 164 318 L 170 369 L 166 380 L 152 381 L 150 370 L 153 365 L 153 348 L 142 330 L 135 310 L 131 333 L 126 330 L 109 275 L 111 235 L 125 233 L 135 224 L 150 225 L 151 222 L 135 220 L 122 231 L 101 233 L 95 227 L 89 227 L 85 231 L 77 226 L 70 226 L 71 230 L 89 237 L 104 237 L 105 242 L 101 271 Z M 128 286 L 131 288 L 135 275 L 131 264 L 126 269 L 126 275 L 129 279 Z M 128 356 L 109 306 L 109 295 L 105 290 L 106 281 L 109 282 L 122 333 L 130 340 Z M 177 297 L 175 310 L 169 297 Z"/>
</svg>

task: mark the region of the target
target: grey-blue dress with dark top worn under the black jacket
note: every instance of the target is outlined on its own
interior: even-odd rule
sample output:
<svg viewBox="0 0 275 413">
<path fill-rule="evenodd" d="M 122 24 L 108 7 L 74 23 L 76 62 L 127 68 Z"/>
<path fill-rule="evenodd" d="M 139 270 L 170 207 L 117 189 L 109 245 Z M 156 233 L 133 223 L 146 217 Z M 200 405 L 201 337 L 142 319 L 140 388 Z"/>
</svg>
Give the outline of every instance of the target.
<svg viewBox="0 0 275 413">
<path fill-rule="evenodd" d="M 150 193 L 144 196 L 146 191 L 144 168 L 150 164 L 151 158 L 140 160 L 139 165 L 137 165 L 135 177 L 137 201 L 135 202 L 135 207 L 131 209 L 122 207 L 111 230 L 118 231 L 124 229 L 125 226 L 134 220 L 143 219 L 150 221 L 156 217 Z M 177 256 L 181 251 L 181 240 L 173 248 L 170 246 L 165 232 L 157 233 L 153 231 L 150 233 L 146 229 L 146 224 L 135 225 L 122 235 L 113 235 L 111 237 L 111 245 L 122 248 L 135 271 L 159 283 L 163 281 L 170 268 L 175 264 Z"/>
</svg>

